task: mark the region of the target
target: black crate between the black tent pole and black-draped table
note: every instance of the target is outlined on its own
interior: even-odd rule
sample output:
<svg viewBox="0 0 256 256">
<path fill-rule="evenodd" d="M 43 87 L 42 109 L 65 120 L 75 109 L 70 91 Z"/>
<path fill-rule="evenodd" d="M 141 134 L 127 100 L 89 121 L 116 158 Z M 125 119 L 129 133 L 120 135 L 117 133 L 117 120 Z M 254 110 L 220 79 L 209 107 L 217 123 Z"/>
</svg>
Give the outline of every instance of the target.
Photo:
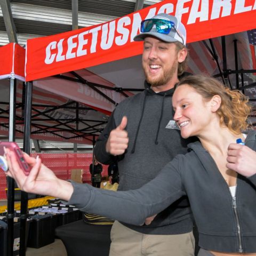
<svg viewBox="0 0 256 256">
<path fill-rule="evenodd" d="M 35 214 L 30 218 L 31 223 L 28 236 L 28 247 L 40 248 L 53 243 L 55 239 L 57 217 L 52 214 Z"/>
</svg>

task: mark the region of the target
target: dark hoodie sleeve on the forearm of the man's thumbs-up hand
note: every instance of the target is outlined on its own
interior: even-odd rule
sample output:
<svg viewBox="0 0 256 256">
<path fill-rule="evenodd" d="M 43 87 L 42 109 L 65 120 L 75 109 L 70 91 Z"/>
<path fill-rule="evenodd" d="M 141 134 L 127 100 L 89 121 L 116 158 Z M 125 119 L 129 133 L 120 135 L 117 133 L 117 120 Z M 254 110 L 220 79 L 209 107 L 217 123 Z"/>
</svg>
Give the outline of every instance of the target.
<svg viewBox="0 0 256 256">
<path fill-rule="evenodd" d="M 113 161 L 114 157 L 111 154 L 108 154 L 106 151 L 106 143 L 108 141 L 109 134 L 113 129 L 116 129 L 114 112 L 115 110 L 110 115 L 105 129 L 101 132 L 94 147 L 95 158 L 102 164 L 110 164 Z"/>
</svg>

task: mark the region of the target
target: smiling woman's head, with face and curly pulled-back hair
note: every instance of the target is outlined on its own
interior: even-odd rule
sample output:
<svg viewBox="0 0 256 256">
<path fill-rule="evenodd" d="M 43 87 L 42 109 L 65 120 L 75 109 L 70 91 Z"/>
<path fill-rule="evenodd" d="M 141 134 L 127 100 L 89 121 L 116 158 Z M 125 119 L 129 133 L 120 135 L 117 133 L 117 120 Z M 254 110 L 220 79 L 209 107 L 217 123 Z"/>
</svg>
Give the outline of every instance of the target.
<svg viewBox="0 0 256 256">
<path fill-rule="evenodd" d="M 189 115 L 191 118 L 194 117 L 196 125 L 212 130 L 212 132 L 216 125 L 213 119 L 216 119 L 217 125 L 220 123 L 234 134 L 239 135 L 248 126 L 246 119 L 251 111 L 251 107 L 247 104 L 248 101 L 240 91 L 229 90 L 217 79 L 189 76 L 178 84 L 173 95 L 174 119 L 181 128 L 188 124 L 193 125 L 193 121 L 185 117 Z M 199 117 L 201 119 L 198 120 Z M 184 133 L 183 130 L 185 129 L 181 129 L 181 134 Z M 194 131 L 193 134 L 187 135 L 184 133 L 182 137 L 197 136 L 198 132 Z"/>
</svg>

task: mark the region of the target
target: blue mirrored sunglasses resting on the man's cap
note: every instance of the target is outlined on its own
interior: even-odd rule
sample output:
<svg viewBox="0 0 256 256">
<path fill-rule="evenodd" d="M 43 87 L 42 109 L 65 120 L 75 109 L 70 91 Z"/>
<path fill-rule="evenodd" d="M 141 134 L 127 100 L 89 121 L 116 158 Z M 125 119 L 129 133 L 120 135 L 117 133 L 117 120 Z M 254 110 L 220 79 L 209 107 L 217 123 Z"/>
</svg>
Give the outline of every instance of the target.
<svg viewBox="0 0 256 256">
<path fill-rule="evenodd" d="M 182 44 L 184 44 L 184 40 L 182 36 L 178 33 L 178 31 L 175 29 L 174 22 L 170 20 L 164 20 L 164 19 L 147 19 L 141 21 L 140 31 L 142 33 L 149 32 L 153 26 L 156 26 L 156 31 L 160 34 L 168 35 L 172 28 L 175 30 L 175 32 L 179 35 L 179 37 L 182 39 Z"/>
</svg>

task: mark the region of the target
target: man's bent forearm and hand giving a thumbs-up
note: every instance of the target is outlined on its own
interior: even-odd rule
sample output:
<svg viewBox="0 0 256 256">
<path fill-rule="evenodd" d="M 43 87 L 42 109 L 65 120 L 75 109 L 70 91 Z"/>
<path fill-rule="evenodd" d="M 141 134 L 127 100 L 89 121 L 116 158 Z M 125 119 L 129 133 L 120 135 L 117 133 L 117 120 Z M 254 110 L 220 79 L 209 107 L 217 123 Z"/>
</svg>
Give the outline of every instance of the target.
<svg viewBox="0 0 256 256">
<path fill-rule="evenodd" d="M 116 126 L 113 111 L 94 147 L 94 155 L 100 163 L 110 164 L 113 162 L 113 156 L 124 154 L 129 142 L 125 131 L 126 124 L 127 118 L 123 117 L 121 124 Z"/>
</svg>

